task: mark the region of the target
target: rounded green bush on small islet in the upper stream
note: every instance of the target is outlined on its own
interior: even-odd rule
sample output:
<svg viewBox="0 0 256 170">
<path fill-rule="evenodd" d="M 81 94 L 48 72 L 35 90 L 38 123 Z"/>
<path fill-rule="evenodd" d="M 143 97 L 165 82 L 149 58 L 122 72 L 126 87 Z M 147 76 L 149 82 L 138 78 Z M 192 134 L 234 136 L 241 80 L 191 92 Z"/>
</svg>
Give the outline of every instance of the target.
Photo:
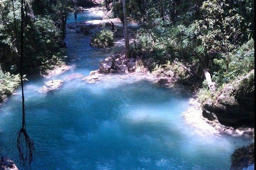
<svg viewBox="0 0 256 170">
<path fill-rule="evenodd" d="M 91 41 L 94 47 L 107 47 L 114 44 L 114 33 L 110 30 L 103 29 L 101 32 L 96 32 Z"/>
</svg>

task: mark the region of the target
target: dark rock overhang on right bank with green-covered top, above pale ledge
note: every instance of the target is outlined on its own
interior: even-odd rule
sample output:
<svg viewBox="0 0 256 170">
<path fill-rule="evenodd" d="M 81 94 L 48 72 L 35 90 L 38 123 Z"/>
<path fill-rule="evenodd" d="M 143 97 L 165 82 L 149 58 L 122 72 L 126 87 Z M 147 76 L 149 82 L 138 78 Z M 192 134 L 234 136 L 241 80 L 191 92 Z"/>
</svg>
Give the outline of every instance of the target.
<svg viewBox="0 0 256 170">
<path fill-rule="evenodd" d="M 203 104 L 203 116 L 222 125 L 254 127 L 254 70 L 227 84 Z"/>
</svg>

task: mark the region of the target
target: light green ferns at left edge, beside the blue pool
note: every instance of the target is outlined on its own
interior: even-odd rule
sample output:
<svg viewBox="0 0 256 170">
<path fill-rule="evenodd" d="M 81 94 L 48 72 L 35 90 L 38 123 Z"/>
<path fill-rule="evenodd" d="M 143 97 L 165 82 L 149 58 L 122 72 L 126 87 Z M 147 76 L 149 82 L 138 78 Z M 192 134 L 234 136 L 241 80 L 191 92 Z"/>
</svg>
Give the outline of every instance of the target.
<svg viewBox="0 0 256 170">
<path fill-rule="evenodd" d="M 19 74 L 13 75 L 9 72 L 4 73 L 0 69 L 0 101 L 14 92 L 20 84 Z"/>
</svg>

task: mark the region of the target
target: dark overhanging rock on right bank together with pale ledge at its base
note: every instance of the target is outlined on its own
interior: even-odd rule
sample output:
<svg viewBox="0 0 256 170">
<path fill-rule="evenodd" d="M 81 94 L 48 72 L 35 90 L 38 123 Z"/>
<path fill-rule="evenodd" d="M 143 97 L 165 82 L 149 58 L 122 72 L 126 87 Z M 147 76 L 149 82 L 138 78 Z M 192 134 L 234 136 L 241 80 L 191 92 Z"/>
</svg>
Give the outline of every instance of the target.
<svg viewBox="0 0 256 170">
<path fill-rule="evenodd" d="M 249 79 L 254 70 L 227 84 L 214 99 L 202 104 L 202 114 L 207 122 L 221 132 L 254 136 L 254 90 L 245 92 L 238 87 Z"/>
</svg>

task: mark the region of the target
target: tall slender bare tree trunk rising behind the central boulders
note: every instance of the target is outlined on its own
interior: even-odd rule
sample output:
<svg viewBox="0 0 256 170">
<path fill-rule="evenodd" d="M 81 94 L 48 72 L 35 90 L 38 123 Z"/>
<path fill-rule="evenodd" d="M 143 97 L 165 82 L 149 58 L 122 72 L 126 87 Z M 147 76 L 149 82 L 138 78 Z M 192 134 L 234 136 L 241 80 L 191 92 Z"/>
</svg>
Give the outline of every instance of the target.
<svg viewBox="0 0 256 170">
<path fill-rule="evenodd" d="M 123 37 L 125 42 L 125 51 L 126 57 L 130 58 L 130 51 L 129 51 L 129 36 L 128 36 L 128 29 L 127 29 L 127 16 L 126 16 L 126 5 L 125 0 L 122 0 L 123 4 Z"/>
</svg>

